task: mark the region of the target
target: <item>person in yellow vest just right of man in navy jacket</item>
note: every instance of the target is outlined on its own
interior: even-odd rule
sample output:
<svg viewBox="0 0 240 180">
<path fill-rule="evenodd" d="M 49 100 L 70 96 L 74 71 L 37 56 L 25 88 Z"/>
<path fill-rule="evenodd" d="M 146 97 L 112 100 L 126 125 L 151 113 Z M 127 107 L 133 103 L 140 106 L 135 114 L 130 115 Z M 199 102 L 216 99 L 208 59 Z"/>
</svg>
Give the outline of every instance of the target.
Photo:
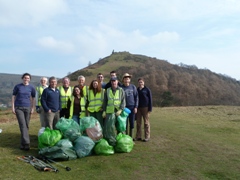
<svg viewBox="0 0 240 180">
<path fill-rule="evenodd" d="M 61 96 L 61 104 L 62 109 L 60 111 L 60 118 L 64 117 L 66 119 L 69 118 L 69 111 L 70 111 L 70 97 L 72 95 L 72 87 L 70 86 L 70 79 L 68 77 L 64 77 L 62 79 L 62 86 L 58 87 Z"/>
</svg>

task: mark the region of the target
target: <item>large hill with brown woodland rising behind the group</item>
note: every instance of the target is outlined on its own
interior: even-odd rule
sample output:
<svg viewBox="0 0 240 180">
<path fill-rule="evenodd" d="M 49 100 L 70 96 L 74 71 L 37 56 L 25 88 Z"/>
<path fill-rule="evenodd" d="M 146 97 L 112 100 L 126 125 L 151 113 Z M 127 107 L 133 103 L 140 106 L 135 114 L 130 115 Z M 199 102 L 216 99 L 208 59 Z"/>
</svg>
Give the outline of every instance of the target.
<svg viewBox="0 0 240 180">
<path fill-rule="evenodd" d="M 126 72 L 132 74 L 135 85 L 143 77 L 152 90 L 154 106 L 240 105 L 240 83 L 236 79 L 128 52 L 115 52 L 69 77 L 76 81 L 79 75 L 84 75 L 89 84 L 101 72 L 107 82 L 112 70 L 117 71 L 119 79 Z"/>
</svg>

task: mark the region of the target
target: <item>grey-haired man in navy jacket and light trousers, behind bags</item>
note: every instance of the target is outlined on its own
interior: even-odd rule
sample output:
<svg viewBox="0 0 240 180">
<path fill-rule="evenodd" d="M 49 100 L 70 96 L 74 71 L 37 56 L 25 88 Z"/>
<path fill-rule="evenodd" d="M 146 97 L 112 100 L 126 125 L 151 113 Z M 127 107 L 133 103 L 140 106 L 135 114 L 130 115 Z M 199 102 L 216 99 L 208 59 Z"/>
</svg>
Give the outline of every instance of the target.
<svg viewBox="0 0 240 180">
<path fill-rule="evenodd" d="M 44 109 L 44 120 L 46 127 L 55 129 L 55 125 L 59 120 L 59 112 L 61 110 L 60 91 L 57 89 L 57 78 L 54 76 L 49 78 L 48 88 L 43 90 L 41 104 Z"/>
</svg>

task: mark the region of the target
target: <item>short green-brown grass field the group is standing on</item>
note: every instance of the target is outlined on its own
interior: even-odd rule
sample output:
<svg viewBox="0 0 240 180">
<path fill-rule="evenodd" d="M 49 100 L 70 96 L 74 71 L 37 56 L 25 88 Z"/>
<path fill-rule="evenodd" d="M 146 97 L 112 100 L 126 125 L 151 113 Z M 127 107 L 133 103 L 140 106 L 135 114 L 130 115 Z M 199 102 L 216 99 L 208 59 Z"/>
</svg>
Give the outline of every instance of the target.
<svg viewBox="0 0 240 180">
<path fill-rule="evenodd" d="M 20 133 L 10 111 L 0 111 L 0 179 L 240 179 L 240 108 L 154 108 L 151 140 L 130 153 L 64 161 L 72 168 L 39 172 L 17 156 L 37 156 L 40 122 L 30 123 L 31 150 L 20 151 Z"/>
</svg>

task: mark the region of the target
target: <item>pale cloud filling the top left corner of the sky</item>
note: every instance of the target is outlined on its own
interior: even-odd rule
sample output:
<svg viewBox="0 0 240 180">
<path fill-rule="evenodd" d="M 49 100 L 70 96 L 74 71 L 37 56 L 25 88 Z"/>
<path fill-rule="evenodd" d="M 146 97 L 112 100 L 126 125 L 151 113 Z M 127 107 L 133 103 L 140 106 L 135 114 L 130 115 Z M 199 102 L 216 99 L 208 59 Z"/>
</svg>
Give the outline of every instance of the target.
<svg viewBox="0 0 240 180">
<path fill-rule="evenodd" d="M 1 0 L 0 26 L 36 26 L 67 11 L 64 0 Z"/>
</svg>

